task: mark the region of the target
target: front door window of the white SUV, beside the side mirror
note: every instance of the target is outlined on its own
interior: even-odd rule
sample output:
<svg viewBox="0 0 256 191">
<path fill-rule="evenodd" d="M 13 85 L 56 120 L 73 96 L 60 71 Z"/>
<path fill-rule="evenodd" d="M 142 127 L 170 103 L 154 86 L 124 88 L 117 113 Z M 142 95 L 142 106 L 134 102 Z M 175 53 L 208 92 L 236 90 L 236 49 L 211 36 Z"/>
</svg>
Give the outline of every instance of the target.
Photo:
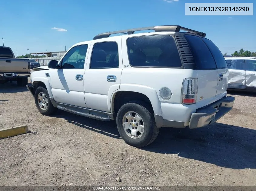
<svg viewBox="0 0 256 191">
<path fill-rule="evenodd" d="M 85 55 L 88 49 L 88 44 L 79 45 L 71 48 L 62 59 L 62 68 L 83 69 L 85 65 Z"/>
</svg>

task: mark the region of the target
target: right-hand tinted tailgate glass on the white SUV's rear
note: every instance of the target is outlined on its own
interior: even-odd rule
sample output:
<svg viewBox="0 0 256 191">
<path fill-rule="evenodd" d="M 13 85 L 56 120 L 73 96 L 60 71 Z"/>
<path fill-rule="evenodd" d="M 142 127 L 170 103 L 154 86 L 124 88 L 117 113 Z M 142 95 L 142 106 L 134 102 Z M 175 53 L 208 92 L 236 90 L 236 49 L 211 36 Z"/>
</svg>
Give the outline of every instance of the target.
<svg viewBox="0 0 256 191">
<path fill-rule="evenodd" d="M 222 55 L 221 51 L 218 49 L 218 47 L 211 41 L 206 38 L 202 38 L 205 44 L 210 49 L 212 56 L 215 60 L 215 63 L 217 65 L 217 68 L 226 68 L 227 63 L 224 59 L 224 56 Z"/>
</svg>

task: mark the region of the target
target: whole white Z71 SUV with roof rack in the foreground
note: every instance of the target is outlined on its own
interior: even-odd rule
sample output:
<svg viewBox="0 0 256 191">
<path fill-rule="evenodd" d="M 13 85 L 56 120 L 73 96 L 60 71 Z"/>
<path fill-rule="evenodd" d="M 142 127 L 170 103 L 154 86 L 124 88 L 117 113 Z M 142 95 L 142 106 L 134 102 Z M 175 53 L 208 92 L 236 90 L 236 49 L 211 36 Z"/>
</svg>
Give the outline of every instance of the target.
<svg viewBox="0 0 256 191">
<path fill-rule="evenodd" d="M 140 30 L 154 32 L 134 34 Z M 110 37 L 117 33 L 127 35 Z M 36 70 L 27 88 L 40 113 L 58 108 L 116 120 L 121 137 L 136 147 L 153 142 L 160 127 L 214 123 L 234 103 L 226 96 L 228 66 L 218 47 L 205 33 L 181 26 L 102 33 Z"/>
</svg>

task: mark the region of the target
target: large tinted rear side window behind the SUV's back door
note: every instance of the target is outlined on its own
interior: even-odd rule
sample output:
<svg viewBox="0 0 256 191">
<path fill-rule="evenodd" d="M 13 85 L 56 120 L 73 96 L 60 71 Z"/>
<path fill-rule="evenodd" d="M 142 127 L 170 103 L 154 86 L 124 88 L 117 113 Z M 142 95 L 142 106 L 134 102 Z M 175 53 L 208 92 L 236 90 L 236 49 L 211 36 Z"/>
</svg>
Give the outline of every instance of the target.
<svg viewBox="0 0 256 191">
<path fill-rule="evenodd" d="M 170 35 L 150 35 L 127 39 L 131 66 L 181 67 L 175 40 Z"/>
</svg>

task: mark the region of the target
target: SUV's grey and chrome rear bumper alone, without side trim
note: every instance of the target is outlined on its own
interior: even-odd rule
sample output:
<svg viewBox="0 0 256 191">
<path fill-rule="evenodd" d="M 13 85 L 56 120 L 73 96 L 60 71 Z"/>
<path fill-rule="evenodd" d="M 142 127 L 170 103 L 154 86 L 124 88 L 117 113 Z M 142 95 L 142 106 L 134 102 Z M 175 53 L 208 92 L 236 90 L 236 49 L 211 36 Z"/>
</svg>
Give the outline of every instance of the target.
<svg viewBox="0 0 256 191">
<path fill-rule="evenodd" d="M 188 128 L 195 129 L 214 123 L 233 108 L 234 100 L 232 96 L 223 97 L 207 107 L 196 110 L 196 113 L 191 115 Z"/>
</svg>

